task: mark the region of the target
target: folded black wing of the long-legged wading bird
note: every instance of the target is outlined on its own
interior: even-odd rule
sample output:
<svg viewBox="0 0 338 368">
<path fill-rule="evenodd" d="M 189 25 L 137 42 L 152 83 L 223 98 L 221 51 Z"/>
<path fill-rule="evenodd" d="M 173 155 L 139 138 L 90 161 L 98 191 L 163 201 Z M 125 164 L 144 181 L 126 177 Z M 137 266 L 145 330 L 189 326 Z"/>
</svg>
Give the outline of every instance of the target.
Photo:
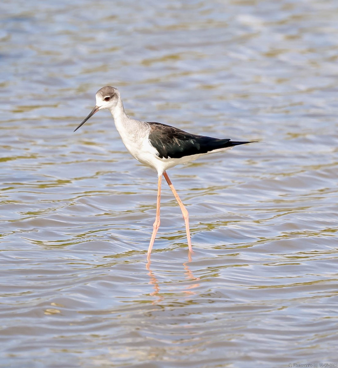
<svg viewBox="0 0 338 368">
<path fill-rule="evenodd" d="M 250 143 L 191 134 L 161 123 L 147 123 L 150 124 L 149 141 L 159 152 L 160 158 L 179 159 L 184 156 L 211 152 L 215 149 Z"/>
</svg>

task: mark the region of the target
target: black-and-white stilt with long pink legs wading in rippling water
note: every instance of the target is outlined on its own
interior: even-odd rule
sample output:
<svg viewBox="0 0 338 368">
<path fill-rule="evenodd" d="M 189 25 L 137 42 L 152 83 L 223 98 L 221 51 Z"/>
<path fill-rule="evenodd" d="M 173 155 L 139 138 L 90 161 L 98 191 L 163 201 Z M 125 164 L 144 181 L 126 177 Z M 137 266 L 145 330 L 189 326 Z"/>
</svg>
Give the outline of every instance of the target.
<svg viewBox="0 0 338 368">
<path fill-rule="evenodd" d="M 178 164 L 188 163 L 208 153 L 227 151 L 234 146 L 252 143 L 253 141 L 240 142 L 231 141 L 229 138 L 206 137 L 185 132 L 171 125 L 133 119 L 125 113 L 118 88 L 112 86 L 105 86 L 99 89 L 96 92 L 95 99 L 95 107 L 74 132 L 99 110 L 108 109 L 114 118 L 115 127 L 127 151 L 140 163 L 151 167 L 157 172 L 156 217 L 147 251 L 148 261 L 150 260 L 150 254 L 160 226 L 162 176 L 166 179 L 172 194 L 181 208 L 188 239 L 189 255 L 191 255 L 189 213 L 172 185 L 167 170 Z"/>
</svg>

